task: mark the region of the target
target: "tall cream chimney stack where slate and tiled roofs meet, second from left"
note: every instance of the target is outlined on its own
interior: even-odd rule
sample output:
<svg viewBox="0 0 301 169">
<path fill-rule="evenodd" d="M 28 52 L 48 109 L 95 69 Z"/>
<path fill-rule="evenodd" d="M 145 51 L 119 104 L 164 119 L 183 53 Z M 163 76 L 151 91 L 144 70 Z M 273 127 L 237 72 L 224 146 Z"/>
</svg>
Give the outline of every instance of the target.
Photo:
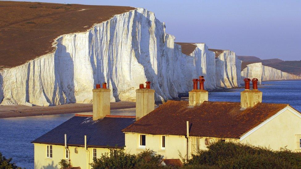
<svg viewBox="0 0 301 169">
<path fill-rule="evenodd" d="M 136 90 L 136 120 L 147 115 L 155 109 L 155 90 L 150 89 L 150 82 L 146 82 L 146 88 L 143 84 Z"/>
</svg>

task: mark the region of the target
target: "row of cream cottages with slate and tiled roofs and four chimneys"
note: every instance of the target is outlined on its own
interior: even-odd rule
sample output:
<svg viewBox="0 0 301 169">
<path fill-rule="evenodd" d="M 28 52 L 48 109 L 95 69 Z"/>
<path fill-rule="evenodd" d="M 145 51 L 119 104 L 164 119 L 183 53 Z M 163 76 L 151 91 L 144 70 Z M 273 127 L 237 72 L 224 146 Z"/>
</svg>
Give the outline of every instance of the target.
<svg viewBox="0 0 301 169">
<path fill-rule="evenodd" d="M 146 149 L 165 161 L 189 158 L 212 141 L 237 141 L 279 150 L 301 151 L 301 114 L 288 104 L 262 103 L 258 79 L 245 78 L 241 102 L 210 102 L 204 77 L 193 79 L 189 101 L 169 100 L 155 109 L 155 91 L 140 84 L 136 116 L 110 115 L 110 89 L 93 89 L 93 115 L 76 114 L 32 141 L 35 168 L 59 168 L 61 159 L 89 169 L 93 158 L 113 148 L 137 154 Z M 285 91 L 284 91 L 285 92 Z"/>
</svg>

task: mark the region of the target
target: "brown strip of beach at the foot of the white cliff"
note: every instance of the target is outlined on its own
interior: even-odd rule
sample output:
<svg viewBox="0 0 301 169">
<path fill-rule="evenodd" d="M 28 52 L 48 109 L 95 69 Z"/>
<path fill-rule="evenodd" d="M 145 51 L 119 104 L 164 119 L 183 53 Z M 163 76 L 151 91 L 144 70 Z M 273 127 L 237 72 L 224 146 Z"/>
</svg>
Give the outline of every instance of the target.
<svg viewBox="0 0 301 169">
<path fill-rule="evenodd" d="M 70 103 L 49 107 L 29 107 L 24 105 L 0 106 L 0 118 L 92 112 L 92 106 L 92 104 L 83 103 Z M 113 102 L 111 103 L 111 110 L 134 108 L 135 106 L 135 102 Z"/>
</svg>

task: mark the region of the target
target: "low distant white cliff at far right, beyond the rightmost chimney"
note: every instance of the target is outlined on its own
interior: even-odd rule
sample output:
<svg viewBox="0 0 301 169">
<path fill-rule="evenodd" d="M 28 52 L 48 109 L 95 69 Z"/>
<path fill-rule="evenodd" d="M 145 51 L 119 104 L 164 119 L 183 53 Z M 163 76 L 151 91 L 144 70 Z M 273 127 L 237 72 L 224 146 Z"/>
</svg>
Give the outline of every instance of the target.
<svg viewBox="0 0 301 169">
<path fill-rule="evenodd" d="M 269 66 L 264 66 L 261 62 L 247 65 L 247 67 L 241 71 L 241 76 L 247 78 L 258 78 L 259 84 L 261 84 L 261 81 L 269 80 L 301 79 L 301 76 L 282 72 L 281 70 L 277 70 Z"/>
</svg>

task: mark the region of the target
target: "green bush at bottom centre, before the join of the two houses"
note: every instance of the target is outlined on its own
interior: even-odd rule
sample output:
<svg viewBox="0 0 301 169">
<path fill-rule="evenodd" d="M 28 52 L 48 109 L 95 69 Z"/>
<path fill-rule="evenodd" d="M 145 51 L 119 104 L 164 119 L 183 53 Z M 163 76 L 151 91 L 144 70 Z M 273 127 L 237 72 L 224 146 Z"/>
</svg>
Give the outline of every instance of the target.
<svg viewBox="0 0 301 169">
<path fill-rule="evenodd" d="M 145 150 L 137 155 L 126 153 L 124 149 L 110 148 L 110 153 L 101 154 L 90 165 L 93 169 L 100 168 L 159 168 L 162 155 L 152 150 Z"/>
</svg>

